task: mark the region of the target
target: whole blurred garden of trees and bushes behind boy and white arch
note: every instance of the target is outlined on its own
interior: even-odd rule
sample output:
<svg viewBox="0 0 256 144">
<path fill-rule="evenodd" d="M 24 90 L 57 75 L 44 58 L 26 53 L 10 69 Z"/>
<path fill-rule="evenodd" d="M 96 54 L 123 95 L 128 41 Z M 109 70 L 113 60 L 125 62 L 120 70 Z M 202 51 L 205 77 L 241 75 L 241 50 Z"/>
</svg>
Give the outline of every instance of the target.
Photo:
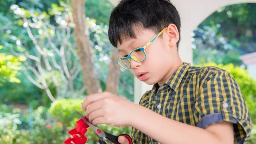
<svg viewBox="0 0 256 144">
<path fill-rule="evenodd" d="M 134 101 L 133 75 L 115 64 L 119 55 L 108 40 L 113 7 L 108 0 L 0 1 L 1 144 L 61 144 L 88 94 L 110 91 Z M 229 71 L 255 124 L 256 4 L 220 7 L 191 41 L 193 65 Z M 100 127 L 115 135 L 131 130 Z M 90 129 L 86 136 L 97 142 Z"/>
</svg>

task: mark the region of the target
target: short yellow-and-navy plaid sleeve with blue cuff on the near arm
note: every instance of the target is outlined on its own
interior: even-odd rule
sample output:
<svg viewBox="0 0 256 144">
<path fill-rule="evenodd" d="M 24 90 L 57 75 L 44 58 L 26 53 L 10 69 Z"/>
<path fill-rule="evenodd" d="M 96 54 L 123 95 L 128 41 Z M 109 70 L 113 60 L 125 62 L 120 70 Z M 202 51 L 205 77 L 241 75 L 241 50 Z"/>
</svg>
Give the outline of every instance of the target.
<svg viewBox="0 0 256 144">
<path fill-rule="evenodd" d="M 249 141 L 250 114 L 238 84 L 227 71 L 212 71 L 205 78 L 195 100 L 194 121 L 200 128 L 222 121 L 233 123 L 234 144 Z"/>
</svg>

